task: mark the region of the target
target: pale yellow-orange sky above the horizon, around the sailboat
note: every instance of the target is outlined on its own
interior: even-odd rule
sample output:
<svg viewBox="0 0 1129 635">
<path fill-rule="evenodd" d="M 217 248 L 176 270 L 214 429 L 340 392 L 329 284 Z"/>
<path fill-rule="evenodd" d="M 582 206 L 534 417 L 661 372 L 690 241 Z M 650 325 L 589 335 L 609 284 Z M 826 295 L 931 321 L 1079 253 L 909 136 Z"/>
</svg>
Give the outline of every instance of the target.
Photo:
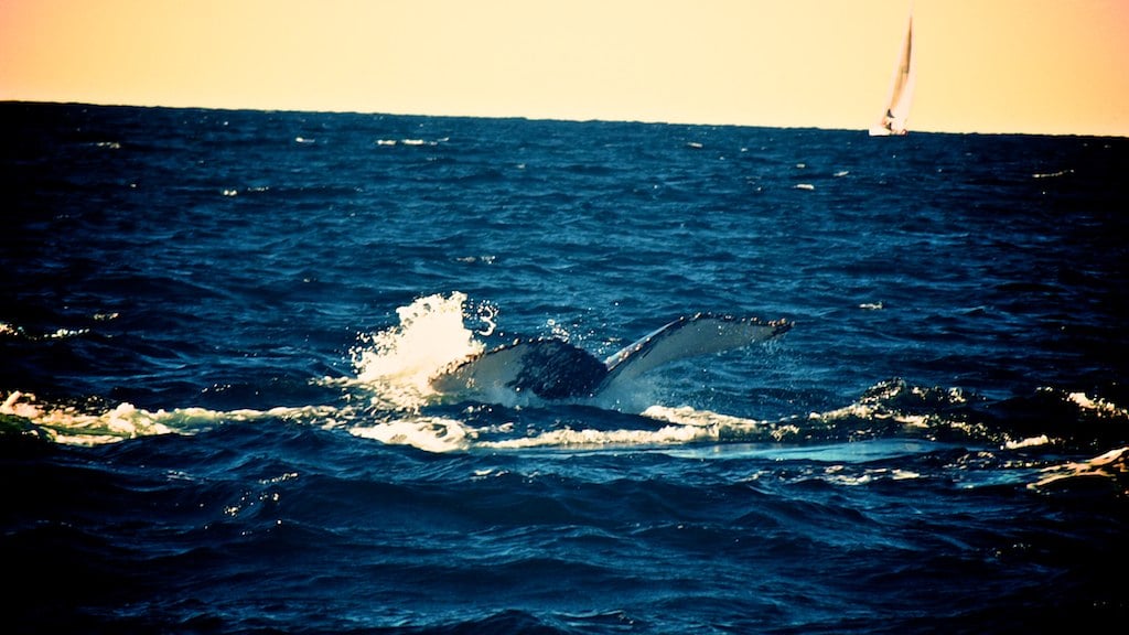
<svg viewBox="0 0 1129 635">
<path fill-rule="evenodd" d="M 1129 0 L 0 0 L 0 101 L 1129 137 Z"/>
</svg>

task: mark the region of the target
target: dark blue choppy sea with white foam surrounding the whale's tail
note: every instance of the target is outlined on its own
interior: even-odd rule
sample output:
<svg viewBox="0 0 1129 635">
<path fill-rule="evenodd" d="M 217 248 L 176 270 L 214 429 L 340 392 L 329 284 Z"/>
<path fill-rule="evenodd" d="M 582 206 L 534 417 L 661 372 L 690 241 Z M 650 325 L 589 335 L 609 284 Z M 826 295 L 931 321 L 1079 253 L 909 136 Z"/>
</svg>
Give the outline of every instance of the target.
<svg viewBox="0 0 1129 635">
<path fill-rule="evenodd" d="M 0 121 L 5 633 L 1129 617 L 1129 139 Z M 430 382 L 698 313 L 794 325 L 614 395 Z"/>
</svg>

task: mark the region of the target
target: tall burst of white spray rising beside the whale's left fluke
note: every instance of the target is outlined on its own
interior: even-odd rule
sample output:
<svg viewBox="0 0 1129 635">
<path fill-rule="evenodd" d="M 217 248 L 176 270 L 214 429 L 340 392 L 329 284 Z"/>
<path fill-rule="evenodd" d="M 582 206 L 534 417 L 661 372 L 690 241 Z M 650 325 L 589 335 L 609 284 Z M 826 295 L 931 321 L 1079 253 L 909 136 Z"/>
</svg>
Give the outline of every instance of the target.
<svg viewBox="0 0 1129 635">
<path fill-rule="evenodd" d="M 436 394 L 431 377 L 485 349 L 464 324 L 465 304 L 458 292 L 421 297 L 396 310 L 400 324 L 361 336 L 352 350 L 356 383 L 373 392 L 374 406 L 419 412 Z"/>
</svg>

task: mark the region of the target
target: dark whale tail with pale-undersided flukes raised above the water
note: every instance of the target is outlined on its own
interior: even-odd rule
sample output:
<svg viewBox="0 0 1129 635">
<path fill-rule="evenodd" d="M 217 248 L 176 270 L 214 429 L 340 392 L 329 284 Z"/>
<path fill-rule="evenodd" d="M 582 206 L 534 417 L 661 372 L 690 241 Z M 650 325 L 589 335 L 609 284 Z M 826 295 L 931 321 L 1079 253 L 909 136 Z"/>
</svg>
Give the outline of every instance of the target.
<svg viewBox="0 0 1129 635">
<path fill-rule="evenodd" d="M 698 313 L 667 322 L 606 359 L 560 338 L 515 340 L 458 360 L 430 380 L 444 394 L 484 398 L 499 390 L 545 400 L 597 397 L 663 365 L 778 338 L 787 320 Z"/>
</svg>

